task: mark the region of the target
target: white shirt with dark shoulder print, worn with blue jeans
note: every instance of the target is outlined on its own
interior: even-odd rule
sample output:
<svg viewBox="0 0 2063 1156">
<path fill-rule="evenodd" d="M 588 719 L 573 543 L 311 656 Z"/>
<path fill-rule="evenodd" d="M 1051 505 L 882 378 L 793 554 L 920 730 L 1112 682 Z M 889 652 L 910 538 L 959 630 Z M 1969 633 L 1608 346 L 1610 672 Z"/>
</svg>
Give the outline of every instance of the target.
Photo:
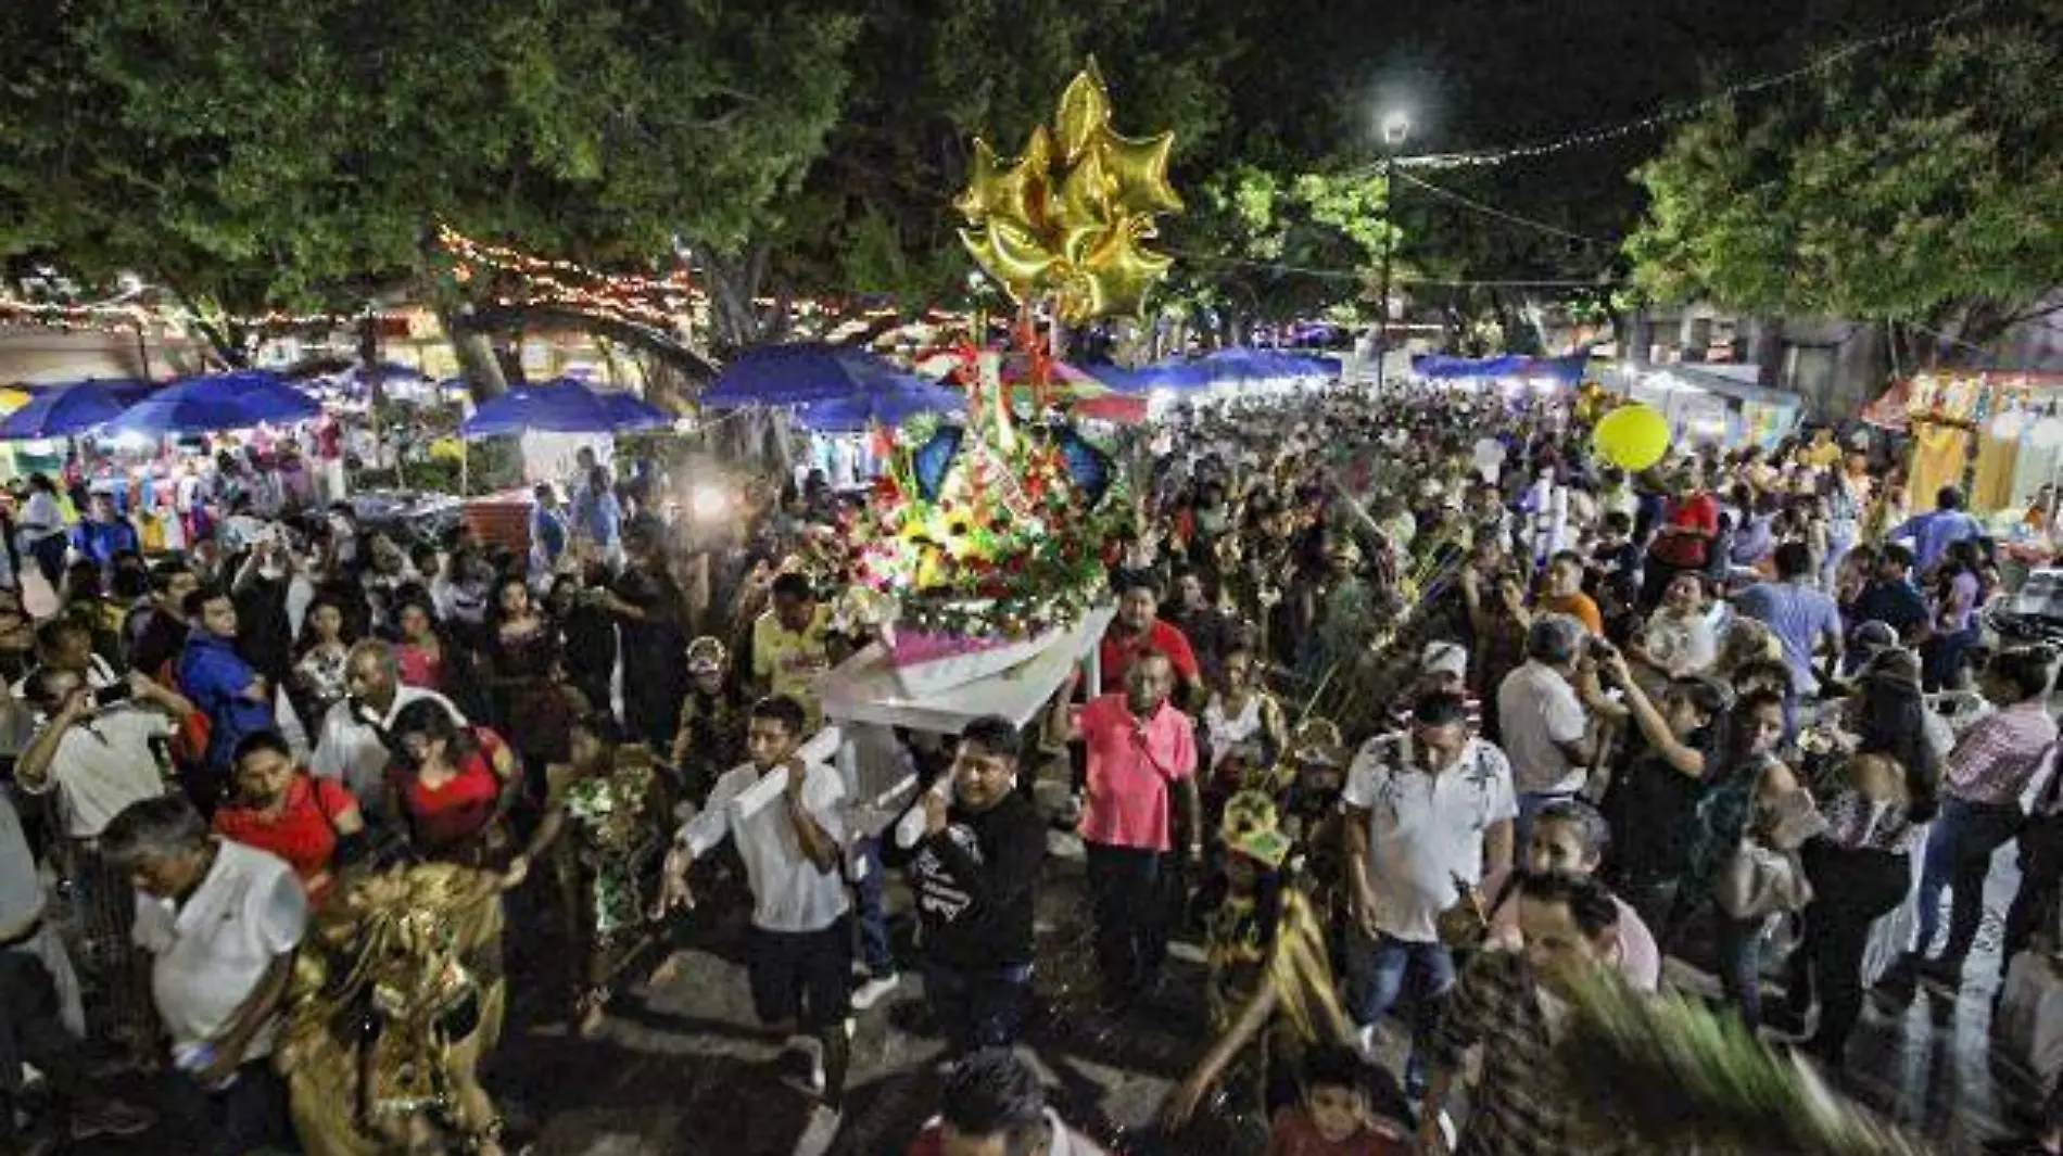
<svg viewBox="0 0 2063 1156">
<path fill-rule="evenodd" d="M 1483 835 L 1518 816 L 1512 764 L 1471 738 L 1438 775 L 1417 764 L 1409 734 L 1376 736 L 1347 769 L 1349 808 L 1368 812 L 1368 878 L 1376 927 L 1411 944 L 1440 940 L 1440 913 L 1461 898 L 1454 878 L 1483 882 Z"/>
</svg>

